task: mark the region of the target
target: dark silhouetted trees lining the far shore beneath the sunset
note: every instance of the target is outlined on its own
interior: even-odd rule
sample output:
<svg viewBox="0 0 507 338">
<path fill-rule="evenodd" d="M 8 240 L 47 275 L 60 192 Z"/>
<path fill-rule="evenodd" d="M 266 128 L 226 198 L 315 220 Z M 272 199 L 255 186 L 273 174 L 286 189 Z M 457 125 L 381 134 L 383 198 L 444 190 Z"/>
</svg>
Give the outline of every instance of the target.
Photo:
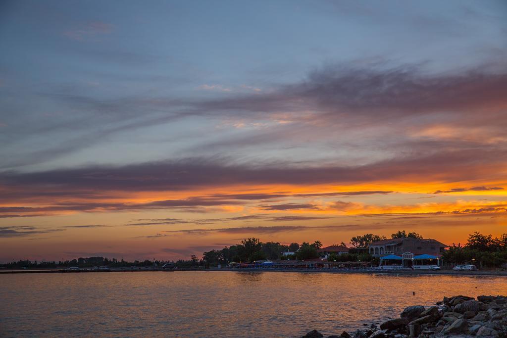
<svg viewBox="0 0 507 338">
<path fill-rule="evenodd" d="M 412 237 L 422 239 L 422 236 L 416 232 L 406 232 L 405 230 L 391 234 L 391 238 Z M 368 252 L 368 246 L 376 241 L 385 240 L 387 237 L 375 234 L 364 234 L 354 236 L 350 239 L 350 249 L 347 254 L 328 255 L 329 261 L 367 261 L 372 265 L 378 264 L 378 258 L 373 257 Z M 346 246 L 345 243 L 333 244 Z M 7 264 L 0 264 L 0 267 L 7 269 L 17 268 L 57 268 L 57 267 L 73 267 L 88 268 L 94 266 L 108 266 L 111 268 L 128 268 L 128 267 L 147 267 L 147 266 L 163 266 L 170 263 L 175 268 L 193 269 L 204 266 L 216 266 L 218 264 L 228 264 L 230 262 L 252 262 L 256 260 L 305 260 L 314 259 L 321 256 L 318 250 L 322 248 L 320 241 L 313 243 L 303 242 L 291 243 L 289 245 L 280 244 L 278 242 L 261 242 L 258 238 L 247 238 L 239 244 L 224 247 L 220 250 L 206 251 L 199 259 L 196 255 L 192 255 L 190 259 L 170 260 L 134 260 L 133 262 L 118 260 L 116 258 L 107 258 L 102 256 L 96 257 L 80 257 L 73 260 L 55 261 L 30 261 L 18 260 Z M 284 252 L 294 252 L 294 254 L 286 255 Z M 453 245 L 445 250 L 442 256 L 447 264 L 476 264 L 479 267 L 498 268 L 507 266 L 507 234 L 493 237 L 492 235 L 483 235 L 475 232 L 468 236 L 465 245 Z"/>
</svg>

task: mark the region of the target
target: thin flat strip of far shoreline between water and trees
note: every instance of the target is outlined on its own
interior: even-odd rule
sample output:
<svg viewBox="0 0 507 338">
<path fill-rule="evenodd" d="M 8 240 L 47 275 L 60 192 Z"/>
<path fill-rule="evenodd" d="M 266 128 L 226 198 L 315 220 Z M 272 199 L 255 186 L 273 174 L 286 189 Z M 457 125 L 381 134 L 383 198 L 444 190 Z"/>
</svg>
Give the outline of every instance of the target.
<svg viewBox="0 0 507 338">
<path fill-rule="evenodd" d="M 178 271 L 229 271 L 229 272 L 302 272 L 302 273 L 331 273 L 331 274 L 382 274 L 382 275 L 445 275 L 445 276 L 498 276 L 507 277 L 507 271 L 453 271 L 453 270 L 327 270 L 327 269 L 114 269 L 109 271 L 100 270 L 63 270 L 63 269 L 38 269 L 38 270 L 6 270 L 1 274 L 41 274 L 41 273 L 108 273 L 108 272 L 178 272 Z"/>
</svg>

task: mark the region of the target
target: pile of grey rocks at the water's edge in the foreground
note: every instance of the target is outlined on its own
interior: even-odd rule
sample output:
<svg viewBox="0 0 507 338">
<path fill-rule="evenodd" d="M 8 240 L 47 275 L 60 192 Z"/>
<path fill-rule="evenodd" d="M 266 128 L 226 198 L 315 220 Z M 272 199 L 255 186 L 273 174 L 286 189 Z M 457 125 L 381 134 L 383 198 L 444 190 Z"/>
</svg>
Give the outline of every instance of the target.
<svg viewBox="0 0 507 338">
<path fill-rule="evenodd" d="M 305 338 L 324 335 L 317 330 Z M 444 297 L 435 306 L 415 305 L 406 308 L 400 318 L 388 320 L 380 326 L 342 332 L 328 338 L 405 338 L 445 336 L 507 337 L 507 296 Z"/>
</svg>

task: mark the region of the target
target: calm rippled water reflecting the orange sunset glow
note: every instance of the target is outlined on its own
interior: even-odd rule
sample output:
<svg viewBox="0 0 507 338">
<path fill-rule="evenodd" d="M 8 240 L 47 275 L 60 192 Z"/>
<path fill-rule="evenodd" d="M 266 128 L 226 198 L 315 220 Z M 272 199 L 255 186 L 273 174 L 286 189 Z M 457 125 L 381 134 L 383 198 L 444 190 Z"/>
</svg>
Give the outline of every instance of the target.
<svg viewBox="0 0 507 338">
<path fill-rule="evenodd" d="M 415 296 L 412 295 L 415 291 Z M 297 272 L 0 275 L 1 336 L 301 336 L 399 316 L 505 277 Z"/>
</svg>

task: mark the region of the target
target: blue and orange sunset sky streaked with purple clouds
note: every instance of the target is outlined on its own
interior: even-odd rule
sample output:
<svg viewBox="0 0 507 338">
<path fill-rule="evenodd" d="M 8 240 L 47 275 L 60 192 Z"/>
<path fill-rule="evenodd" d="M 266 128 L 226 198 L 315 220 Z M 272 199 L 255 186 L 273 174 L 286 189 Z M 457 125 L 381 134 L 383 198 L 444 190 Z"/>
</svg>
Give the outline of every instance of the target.
<svg viewBox="0 0 507 338">
<path fill-rule="evenodd" d="M 504 1 L 3 1 L 0 261 L 507 233 Z"/>
</svg>

